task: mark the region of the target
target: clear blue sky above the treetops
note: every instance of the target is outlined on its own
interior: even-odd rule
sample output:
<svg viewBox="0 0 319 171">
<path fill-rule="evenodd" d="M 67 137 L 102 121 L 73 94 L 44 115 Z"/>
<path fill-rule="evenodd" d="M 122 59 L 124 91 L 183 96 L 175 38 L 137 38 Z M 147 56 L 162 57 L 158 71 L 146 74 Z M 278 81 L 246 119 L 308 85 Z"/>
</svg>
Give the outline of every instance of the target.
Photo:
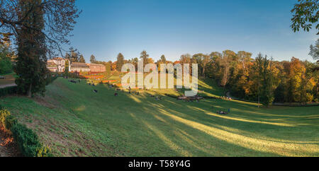
<svg viewBox="0 0 319 171">
<path fill-rule="evenodd" d="M 309 46 L 318 35 L 291 31 L 297 0 L 77 0 L 81 16 L 72 46 L 89 61 L 140 57 L 145 49 L 157 60 L 181 54 L 245 50 L 273 56 L 311 59 Z"/>
</svg>

